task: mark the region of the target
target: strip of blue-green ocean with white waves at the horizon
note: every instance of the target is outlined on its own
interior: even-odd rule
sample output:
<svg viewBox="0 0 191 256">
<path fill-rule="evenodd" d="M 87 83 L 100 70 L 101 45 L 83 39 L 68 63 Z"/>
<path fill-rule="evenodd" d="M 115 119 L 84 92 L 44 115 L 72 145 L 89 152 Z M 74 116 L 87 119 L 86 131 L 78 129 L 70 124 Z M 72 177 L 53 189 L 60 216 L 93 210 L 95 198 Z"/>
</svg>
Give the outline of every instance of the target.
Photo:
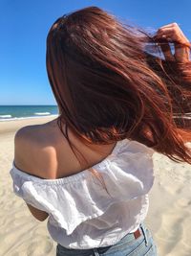
<svg viewBox="0 0 191 256">
<path fill-rule="evenodd" d="M 57 115 L 57 105 L 0 105 L 0 122 Z"/>
</svg>

